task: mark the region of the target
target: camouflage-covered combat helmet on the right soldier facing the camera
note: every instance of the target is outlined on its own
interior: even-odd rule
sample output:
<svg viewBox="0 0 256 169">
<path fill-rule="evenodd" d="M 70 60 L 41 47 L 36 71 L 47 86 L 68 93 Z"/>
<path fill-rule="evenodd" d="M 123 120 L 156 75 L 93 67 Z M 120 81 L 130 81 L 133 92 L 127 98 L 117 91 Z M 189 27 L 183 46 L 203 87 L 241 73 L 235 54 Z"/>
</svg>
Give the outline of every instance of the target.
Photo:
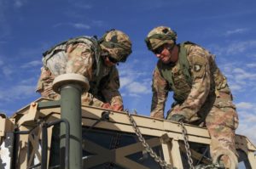
<svg viewBox="0 0 256 169">
<path fill-rule="evenodd" d="M 176 31 L 172 31 L 171 28 L 166 26 L 158 26 L 149 31 L 145 42 L 147 44 L 148 50 L 152 51 L 165 43 L 176 44 L 176 40 Z"/>
</svg>

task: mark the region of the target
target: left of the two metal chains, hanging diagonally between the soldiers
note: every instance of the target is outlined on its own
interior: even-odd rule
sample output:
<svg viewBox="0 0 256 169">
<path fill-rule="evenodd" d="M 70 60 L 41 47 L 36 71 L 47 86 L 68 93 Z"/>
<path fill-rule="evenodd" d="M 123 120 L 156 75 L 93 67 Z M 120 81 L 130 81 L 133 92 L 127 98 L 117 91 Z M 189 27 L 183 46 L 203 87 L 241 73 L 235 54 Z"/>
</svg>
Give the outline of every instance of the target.
<svg viewBox="0 0 256 169">
<path fill-rule="evenodd" d="M 148 143 L 146 143 L 145 138 L 143 138 L 142 132 L 140 132 L 139 128 L 137 127 L 137 123 L 136 121 L 134 121 L 134 119 L 131 116 L 131 113 L 129 112 L 129 110 L 125 110 L 125 112 L 127 113 L 129 120 L 131 122 L 132 128 L 134 129 L 137 138 L 139 139 L 139 141 L 143 144 L 143 147 L 146 149 L 146 151 L 148 152 L 148 154 L 154 158 L 154 161 L 156 161 L 157 163 L 160 164 L 160 166 L 162 168 L 165 169 L 175 169 L 175 167 L 172 167 L 171 164 L 167 164 L 166 161 L 161 160 L 160 156 L 158 156 L 153 149 L 151 149 L 151 147 L 148 145 Z"/>
</svg>

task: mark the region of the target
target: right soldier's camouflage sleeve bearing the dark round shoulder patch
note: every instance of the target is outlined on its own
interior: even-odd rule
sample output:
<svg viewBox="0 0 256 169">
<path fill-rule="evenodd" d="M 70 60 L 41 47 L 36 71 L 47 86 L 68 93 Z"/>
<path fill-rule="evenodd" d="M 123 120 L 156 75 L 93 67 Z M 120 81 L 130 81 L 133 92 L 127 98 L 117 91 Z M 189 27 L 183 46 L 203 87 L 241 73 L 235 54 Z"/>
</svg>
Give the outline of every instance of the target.
<svg viewBox="0 0 256 169">
<path fill-rule="evenodd" d="M 189 96 L 179 107 L 179 113 L 187 120 L 191 119 L 202 104 L 205 103 L 210 91 L 210 69 L 207 53 L 203 48 L 192 46 L 189 49 L 189 65 L 192 76 L 192 87 Z"/>
</svg>

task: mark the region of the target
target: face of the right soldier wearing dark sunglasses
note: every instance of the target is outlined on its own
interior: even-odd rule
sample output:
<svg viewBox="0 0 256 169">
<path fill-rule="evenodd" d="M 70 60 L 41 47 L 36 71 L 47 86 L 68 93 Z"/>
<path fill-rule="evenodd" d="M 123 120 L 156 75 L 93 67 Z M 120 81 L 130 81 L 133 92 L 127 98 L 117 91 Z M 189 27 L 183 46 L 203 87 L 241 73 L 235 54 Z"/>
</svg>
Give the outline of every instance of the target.
<svg viewBox="0 0 256 169">
<path fill-rule="evenodd" d="M 163 44 L 160 48 L 154 51 L 155 56 L 163 63 L 168 64 L 172 61 L 172 50 L 169 49 L 168 44 Z"/>
</svg>

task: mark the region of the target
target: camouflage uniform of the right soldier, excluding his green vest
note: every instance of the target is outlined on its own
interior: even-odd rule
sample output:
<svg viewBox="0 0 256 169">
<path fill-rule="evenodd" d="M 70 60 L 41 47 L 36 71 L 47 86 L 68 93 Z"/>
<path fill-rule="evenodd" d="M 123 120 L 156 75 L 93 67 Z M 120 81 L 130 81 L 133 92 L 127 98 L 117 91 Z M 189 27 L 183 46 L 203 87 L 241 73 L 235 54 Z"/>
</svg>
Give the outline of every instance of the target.
<svg viewBox="0 0 256 169">
<path fill-rule="evenodd" d="M 226 78 L 218 69 L 212 54 L 198 45 L 185 46 L 189 60 L 189 70 L 193 78 L 192 85 L 186 81 L 180 65 L 170 64 L 174 86 L 169 85 L 156 67 L 153 75 L 153 98 L 150 116 L 164 118 L 166 99 L 169 91 L 185 94 L 182 103 L 175 103 L 169 111 L 167 119 L 174 114 L 185 116 L 185 122 L 206 126 L 212 138 L 211 155 L 218 149 L 235 149 L 235 130 L 238 126 L 236 107 L 232 104 L 232 95 Z M 187 91 L 184 93 L 184 91 Z"/>
</svg>

